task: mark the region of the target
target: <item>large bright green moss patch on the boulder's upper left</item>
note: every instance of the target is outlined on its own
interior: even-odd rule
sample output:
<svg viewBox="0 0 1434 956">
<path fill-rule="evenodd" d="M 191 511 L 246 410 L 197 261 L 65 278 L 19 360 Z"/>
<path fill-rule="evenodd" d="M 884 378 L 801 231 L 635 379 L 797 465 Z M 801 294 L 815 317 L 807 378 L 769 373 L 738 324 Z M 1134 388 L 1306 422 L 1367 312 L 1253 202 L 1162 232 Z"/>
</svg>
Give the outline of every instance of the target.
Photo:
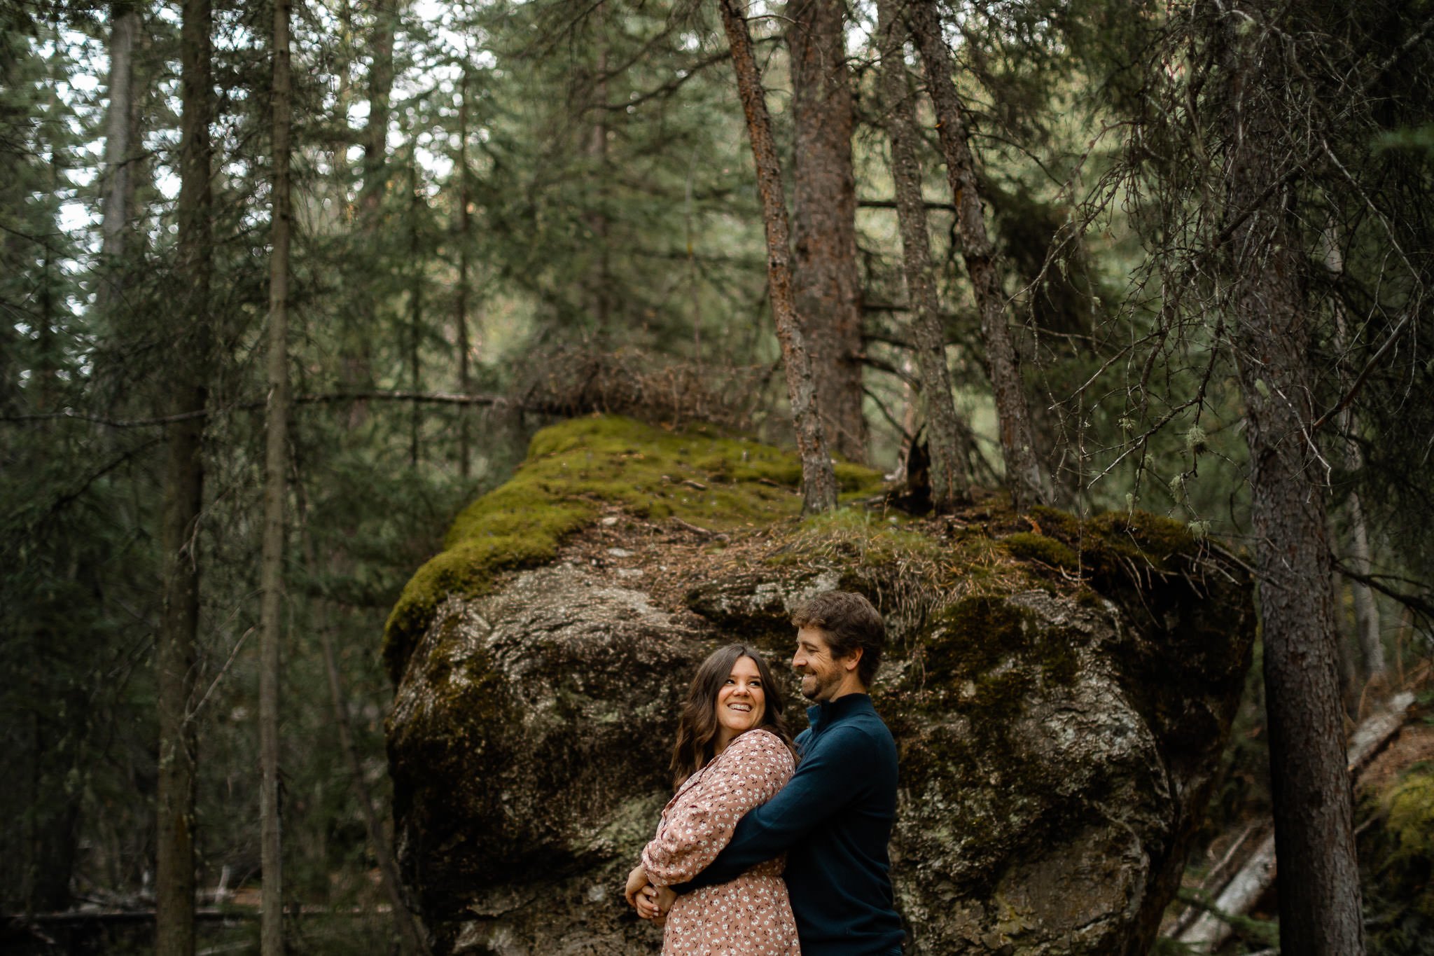
<svg viewBox="0 0 1434 956">
<path fill-rule="evenodd" d="M 882 487 L 880 473 L 856 464 L 837 464 L 836 477 L 845 500 Z M 445 598 L 485 593 L 503 570 L 552 560 L 604 505 L 736 530 L 800 515 L 800 483 L 793 453 L 710 426 L 667 430 L 595 416 L 543 429 L 513 477 L 463 509 L 445 550 L 403 589 L 384 628 L 389 675 L 399 679 Z"/>
</svg>

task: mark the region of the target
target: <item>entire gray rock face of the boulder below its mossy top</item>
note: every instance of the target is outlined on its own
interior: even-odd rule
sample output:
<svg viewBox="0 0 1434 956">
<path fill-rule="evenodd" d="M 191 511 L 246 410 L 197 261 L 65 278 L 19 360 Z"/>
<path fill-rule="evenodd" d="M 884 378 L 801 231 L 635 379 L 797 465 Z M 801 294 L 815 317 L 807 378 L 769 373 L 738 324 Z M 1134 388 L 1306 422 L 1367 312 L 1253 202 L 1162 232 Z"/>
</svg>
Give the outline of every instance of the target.
<svg viewBox="0 0 1434 956">
<path fill-rule="evenodd" d="M 697 662 L 746 639 L 784 666 L 790 611 L 816 589 L 882 603 L 879 572 L 800 562 L 723 568 L 667 606 L 642 591 L 661 569 L 619 570 L 559 563 L 449 599 L 409 659 L 394 814 L 439 953 L 655 952 L 621 880 L 670 794 Z M 1150 947 L 1249 662 L 1249 588 L 1193 550 L 1091 583 L 889 619 L 873 698 L 901 751 L 908 953 Z"/>
</svg>

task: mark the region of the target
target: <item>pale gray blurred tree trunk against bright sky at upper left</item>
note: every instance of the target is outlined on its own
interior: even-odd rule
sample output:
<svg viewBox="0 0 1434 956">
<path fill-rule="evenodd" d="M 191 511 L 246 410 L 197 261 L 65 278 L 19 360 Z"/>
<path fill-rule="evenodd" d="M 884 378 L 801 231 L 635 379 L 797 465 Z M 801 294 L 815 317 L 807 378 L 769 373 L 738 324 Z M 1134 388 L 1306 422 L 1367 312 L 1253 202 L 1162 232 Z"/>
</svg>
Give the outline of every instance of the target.
<svg viewBox="0 0 1434 956">
<path fill-rule="evenodd" d="M 100 224 L 102 279 L 96 302 L 102 311 L 113 308 L 123 294 L 125 239 L 135 196 L 133 159 L 138 143 L 135 129 L 135 46 L 139 37 L 139 10 L 130 1 L 109 7 L 109 107 L 105 113 L 105 218 Z"/>
</svg>

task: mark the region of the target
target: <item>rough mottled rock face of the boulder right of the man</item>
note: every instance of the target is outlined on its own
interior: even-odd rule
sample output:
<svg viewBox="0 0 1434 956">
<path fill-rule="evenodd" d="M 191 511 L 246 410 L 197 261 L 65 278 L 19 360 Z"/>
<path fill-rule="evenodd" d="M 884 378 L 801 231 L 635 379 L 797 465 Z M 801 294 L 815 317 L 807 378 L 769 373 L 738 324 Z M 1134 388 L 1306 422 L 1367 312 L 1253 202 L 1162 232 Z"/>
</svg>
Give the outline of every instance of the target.
<svg viewBox="0 0 1434 956">
<path fill-rule="evenodd" d="M 1134 927 L 1169 902 L 1150 889 L 1182 806 L 1121 685 L 1119 612 L 1044 592 L 958 608 L 1010 651 L 949 678 L 931 654 L 899 685 L 896 887 L 923 929 L 911 952 L 1146 952 Z M 946 639 L 938 625 L 926 648 Z"/>
</svg>

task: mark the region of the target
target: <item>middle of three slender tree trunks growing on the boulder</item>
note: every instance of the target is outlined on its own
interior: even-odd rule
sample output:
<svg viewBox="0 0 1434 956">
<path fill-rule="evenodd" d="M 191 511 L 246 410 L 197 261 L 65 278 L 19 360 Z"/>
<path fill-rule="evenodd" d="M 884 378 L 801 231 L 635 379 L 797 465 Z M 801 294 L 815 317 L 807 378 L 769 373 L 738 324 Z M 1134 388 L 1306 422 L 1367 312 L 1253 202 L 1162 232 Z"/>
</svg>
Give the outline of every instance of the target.
<svg viewBox="0 0 1434 956">
<path fill-rule="evenodd" d="M 926 411 L 931 502 L 938 512 L 949 512 L 971 496 L 971 476 L 964 464 L 969 462 L 969 449 L 962 447 L 961 423 L 951 394 L 946 341 L 931 269 L 926 206 L 921 195 L 921 161 L 916 158 L 919 133 L 906 83 L 906 30 L 893 6 L 895 0 L 878 0 L 876 4 L 876 36 L 882 46 L 882 109 L 892 148 L 892 181 L 896 186 L 906 294 L 915 312 L 911 337 L 916 347 L 921 400 Z"/>
</svg>

